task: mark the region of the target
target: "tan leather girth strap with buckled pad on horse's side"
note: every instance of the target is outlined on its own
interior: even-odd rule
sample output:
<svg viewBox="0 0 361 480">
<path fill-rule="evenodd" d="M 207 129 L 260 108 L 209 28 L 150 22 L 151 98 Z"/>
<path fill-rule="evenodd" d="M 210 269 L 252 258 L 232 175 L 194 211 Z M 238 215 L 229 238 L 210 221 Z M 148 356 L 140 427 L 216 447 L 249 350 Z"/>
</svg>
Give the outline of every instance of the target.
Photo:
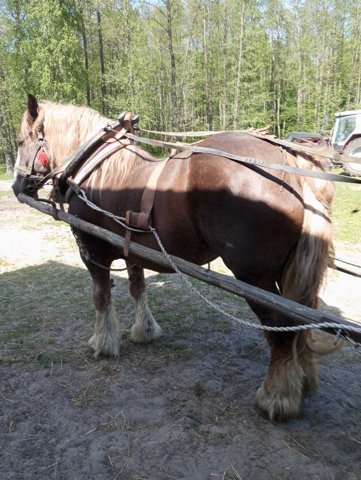
<svg viewBox="0 0 361 480">
<path fill-rule="evenodd" d="M 151 213 L 154 204 L 154 197 L 156 195 L 156 185 L 158 183 L 158 179 L 160 174 L 163 171 L 163 168 L 166 166 L 170 156 L 165 158 L 161 162 L 158 163 L 156 168 L 152 171 L 149 180 L 145 186 L 142 200 L 140 203 L 140 212 L 132 212 L 132 210 L 128 210 L 125 216 L 125 223 L 129 227 L 139 228 L 140 230 L 148 230 L 151 223 Z M 125 241 L 124 241 L 124 249 L 123 254 L 125 257 L 129 254 L 129 244 L 131 241 L 132 230 L 129 228 L 126 229 L 125 232 Z"/>
</svg>

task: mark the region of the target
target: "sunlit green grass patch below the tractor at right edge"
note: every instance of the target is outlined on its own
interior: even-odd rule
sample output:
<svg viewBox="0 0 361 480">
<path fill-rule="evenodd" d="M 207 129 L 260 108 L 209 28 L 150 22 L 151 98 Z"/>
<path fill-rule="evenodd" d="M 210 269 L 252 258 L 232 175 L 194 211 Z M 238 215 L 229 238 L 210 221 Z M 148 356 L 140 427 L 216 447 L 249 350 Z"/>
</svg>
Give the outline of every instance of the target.
<svg viewBox="0 0 361 480">
<path fill-rule="evenodd" d="M 333 168 L 341 173 L 342 168 Z M 335 196 L 332 204 L 334 238 L 345 247 L 355 245 L 361 238 L 361 189 L 359 185 L 335 182 Z"/>
</svg>

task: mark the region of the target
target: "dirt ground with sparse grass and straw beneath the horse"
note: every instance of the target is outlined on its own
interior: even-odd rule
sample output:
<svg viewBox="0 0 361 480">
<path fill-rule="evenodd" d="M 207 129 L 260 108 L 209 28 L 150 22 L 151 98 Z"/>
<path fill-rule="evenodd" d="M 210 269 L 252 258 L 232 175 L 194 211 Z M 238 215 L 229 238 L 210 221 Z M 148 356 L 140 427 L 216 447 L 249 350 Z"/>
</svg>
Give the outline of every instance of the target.
<svg viewBox="0 0 361 480">
<path fill-rule="evenodd" d="M 268 364 L 262 334 L 229 324 L 178 277 L 147 271 L 163 335 L 135 346 L 120 273 L 121 356 L 94 360 L 91 280 L 69 227 L 3 196 L 0 229 L 1 480 L 361 480 L 361 355 L 352 347 L 322 360 L 300 418 L 273 425 L 253 404 Z M 360 263 L 360 244 L 336 247 Z M 220 261 L 212 268 L 229 273 Z M 192 281 L 255 318 L 242 299 Z M 331 271 L 323 308 L 361 324 L 360 291 L 360 278 Z"/>
</svg>

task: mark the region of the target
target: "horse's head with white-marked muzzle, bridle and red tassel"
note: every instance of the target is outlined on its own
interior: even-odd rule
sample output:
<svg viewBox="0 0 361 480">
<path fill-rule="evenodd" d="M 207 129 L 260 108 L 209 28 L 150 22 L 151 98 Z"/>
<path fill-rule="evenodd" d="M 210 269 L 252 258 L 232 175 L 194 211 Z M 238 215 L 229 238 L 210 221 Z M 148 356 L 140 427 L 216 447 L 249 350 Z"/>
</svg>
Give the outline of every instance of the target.
<svg viewBox="0 0 361 480">
<path fill-rule="evenodd" d="M 34 95 L 28 95 L 27 108 L 16 143 L 18 156 L 14 167 L 12 191 L 15 195 L 26 193 L 36 198 L 37 189 L 41 188 L 41 180 L 49 173 L 51 167 L 39 105 Z"/>
</svg>

